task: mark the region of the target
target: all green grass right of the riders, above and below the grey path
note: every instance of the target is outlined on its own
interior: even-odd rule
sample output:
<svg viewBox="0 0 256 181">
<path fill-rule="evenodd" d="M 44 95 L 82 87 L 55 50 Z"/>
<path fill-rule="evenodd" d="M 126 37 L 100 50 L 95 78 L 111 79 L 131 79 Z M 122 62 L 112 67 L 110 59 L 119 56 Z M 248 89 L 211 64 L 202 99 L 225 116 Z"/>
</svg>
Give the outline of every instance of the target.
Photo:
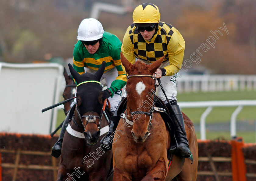
<svg viewBox="0 0 256 181">
<path fill-rule="evenodd" d="M 230 92 L 198 92 L 198 93 L 178 93 L 178 104 L 182 101 L 229 101 L 229 100 L 256 100 L 255 91 L 230 91 Z M 212 123 L 230 123 L 230 118 L 237 107 L 215 107 L 206 117 L 206 125 Z M 193 121 L 199 123 L 201 115 L 206 108 L 183 108 L 182 111 Z M 237 115 L 237 121 L 255 121 L 256 107 L 244 106 L 242 111 Z M 200 138 L 200 133 L 196 133 L 197 138 Z M 237 132 L 237 136 L 244 138 L 244 142 L 255 143 L 255 131 Z M 230 140 L 230 132 L 206 132 L 207 139 L 225 139 Z"/>
</svg>

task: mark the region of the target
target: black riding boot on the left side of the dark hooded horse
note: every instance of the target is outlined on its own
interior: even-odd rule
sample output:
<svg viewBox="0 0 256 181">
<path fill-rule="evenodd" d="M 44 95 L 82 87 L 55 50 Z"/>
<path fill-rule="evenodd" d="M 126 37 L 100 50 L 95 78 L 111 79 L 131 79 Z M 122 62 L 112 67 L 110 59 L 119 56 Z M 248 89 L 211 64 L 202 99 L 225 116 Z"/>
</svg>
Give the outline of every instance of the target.
<svg viewBox="0 0 256 181">
<path fill-rule="evenodd" d="M 76 104 L 74 105 L 74 107 L 75 106 L 76 106 Z M 66 127 L 67 127 L 67 124 L 69 122 L 69 119 L 72 119 L 72 116 L 73 116 L 73 112 L 70 110 L 67 117 L 65 118 L 65 120 L 63 122 L 62 127 L 61 127 L 61 131 L 60 131 L 60 134 L 59 134 L 59 139 L 55 143 L 55 145 L 52 147 L 52 156 L 54 156 L 55 158 L 59 158 L 59 155 L 61 154 L 61 147 L 62 147 L 62 140 L 63 140 L 63 137 L 64 137 L 64 133 L 66 131 Z"/>
</svg>

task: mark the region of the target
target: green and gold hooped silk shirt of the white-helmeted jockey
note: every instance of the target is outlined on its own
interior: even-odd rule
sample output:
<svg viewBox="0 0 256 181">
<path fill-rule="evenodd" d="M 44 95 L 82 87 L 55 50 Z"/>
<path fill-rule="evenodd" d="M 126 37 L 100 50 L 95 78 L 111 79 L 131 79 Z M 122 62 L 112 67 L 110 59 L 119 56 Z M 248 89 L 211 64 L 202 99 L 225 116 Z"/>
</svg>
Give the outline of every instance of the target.
<svg viewBox="0 0 256 181">
<path fill-rule="evenodd" d="M 121 41 L 115 35 L 104 32 L 102 44 L 96 53 L 89 53 L 80 40 L 75 44 L 73 51 L 74 69 L 80 74 L 85 72 L 84 67 L 97 71 L 103 61 L 106 62 L 104 73 L 116 68 L 118 76 L 108 88 L 112 93 L 111 97 L 126 85 L 126 75 L 120 60 L 121 45 Z"/>
</svg>

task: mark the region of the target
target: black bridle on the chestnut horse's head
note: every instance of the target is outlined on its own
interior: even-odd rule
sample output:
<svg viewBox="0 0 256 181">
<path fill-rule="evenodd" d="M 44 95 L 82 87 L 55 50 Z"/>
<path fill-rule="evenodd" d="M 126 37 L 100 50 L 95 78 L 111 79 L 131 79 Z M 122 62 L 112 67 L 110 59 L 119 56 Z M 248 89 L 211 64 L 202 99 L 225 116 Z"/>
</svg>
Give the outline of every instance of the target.
<svg viewBox="0 0 256 181">
<path fill-rule="evenodd" d="M 132 77 L 151 77 L 151 78 L 154 80 L 155 88 L 157 87 L 157 85 L 156 85 L 156 78 L 155 78 L 155 76 L 153 76 L 153 75 L 148 75 L 148 74 L 129 75 L 129 76 L 127 76 L 126 78 L 127 78 L 127 80 L 128 80 L 129 78 L 132 78 Z M 155 91 L 153 91 L 152 96 L 155 96 Z M 154 104 L 155 104 L 155 102 L 154 102 L 154 99 L 153 99 L 153 105 L 152 105 L 153 107 L 154 107 Z M 128 102 L 127 102 L 127 105 L 128 105 Z M 152 127 L 151 120 L 152 120 L 152 118 L 153 118 L 153 111 L 154 111 L 153 108 L 151 109 L 150 112 L 146 112 L 146 111 L 132 111 L 132 112 L 131 112 L 131 115 L 133 115 L 133 114 L 145 114 L 145 115 L 148 115 L 148 116 L 149 116 L 148 130 L 149 130 L 149 129 Z"/>
</svg>

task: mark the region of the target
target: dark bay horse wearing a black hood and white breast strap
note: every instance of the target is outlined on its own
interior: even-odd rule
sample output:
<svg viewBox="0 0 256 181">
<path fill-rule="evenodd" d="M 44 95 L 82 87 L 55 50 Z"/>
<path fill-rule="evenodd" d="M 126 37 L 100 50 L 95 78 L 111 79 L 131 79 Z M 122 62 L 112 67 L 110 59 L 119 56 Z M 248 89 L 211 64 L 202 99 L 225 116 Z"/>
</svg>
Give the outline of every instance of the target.
<svg viewBox="0 0 256 181">
<path fill-rule="evenodd" d="M 98 142 L 102 133 L 108 131 L 108 121 L 102 116 L 103 92 L 99 82 L 105 62 L 94 74 L 80 75 L 70 64 L 69 70 L 77 83 L 77 105 L 63 138 L 57 180 L 103 181 L 112 160 L 112 150 L 105 152 Z"/>
</svg>

